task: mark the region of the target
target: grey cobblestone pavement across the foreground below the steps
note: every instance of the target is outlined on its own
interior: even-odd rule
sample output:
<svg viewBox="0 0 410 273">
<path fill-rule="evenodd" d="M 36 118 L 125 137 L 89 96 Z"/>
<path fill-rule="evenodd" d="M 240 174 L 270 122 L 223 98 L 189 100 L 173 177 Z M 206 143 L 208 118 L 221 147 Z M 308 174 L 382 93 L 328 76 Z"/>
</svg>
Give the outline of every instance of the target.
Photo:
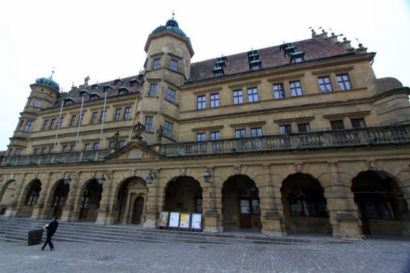
<svg viewBox="0 0 410 273">
<path fill-rule="evenodd" d="M 0 243 L 0 272 L 410 272 L 409 238 L 332 245 Z"/>
</svg>

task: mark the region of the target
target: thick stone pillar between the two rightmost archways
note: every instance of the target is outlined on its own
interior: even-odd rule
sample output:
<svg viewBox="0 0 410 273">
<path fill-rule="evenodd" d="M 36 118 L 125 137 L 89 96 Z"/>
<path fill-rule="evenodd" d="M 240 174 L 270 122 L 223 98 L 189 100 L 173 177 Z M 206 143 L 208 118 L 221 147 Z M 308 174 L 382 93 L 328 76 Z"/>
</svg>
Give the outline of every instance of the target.
<svg viewBox="0 0 410 273">
<path fill-rule="evenodd" d="M 351 181 L 339 176 L 337 162 L 328 162 L 329 174 L 324 181 L 329 221 L 333 237 L 347 241 L 363 241 L 357 207 L 351 192 Z"/>
</svg>

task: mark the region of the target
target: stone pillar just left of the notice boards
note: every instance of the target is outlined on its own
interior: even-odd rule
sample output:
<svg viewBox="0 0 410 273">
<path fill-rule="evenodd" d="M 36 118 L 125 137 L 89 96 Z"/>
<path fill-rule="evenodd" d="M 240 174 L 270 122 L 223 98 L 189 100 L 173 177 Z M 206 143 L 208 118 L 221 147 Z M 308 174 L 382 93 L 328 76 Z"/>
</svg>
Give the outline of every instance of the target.
<svg viewBox="0 0 410 273">
<path fill-rule="evenodd" d="M 161 182 L 163 181 L 163 178 L 160 176 L 160 169 L 154 169 L 153 171 L 156 173 L 156 178 L 153 183 L 147 185 L 148 193 L 146 194 L 145 221 L 143 226 L 147 229 L 156 229 L 158 227 L 158 216 L 161 207 L 160 198 L 163 196 L 163 194 L 160 196 Z"/>
</svg>

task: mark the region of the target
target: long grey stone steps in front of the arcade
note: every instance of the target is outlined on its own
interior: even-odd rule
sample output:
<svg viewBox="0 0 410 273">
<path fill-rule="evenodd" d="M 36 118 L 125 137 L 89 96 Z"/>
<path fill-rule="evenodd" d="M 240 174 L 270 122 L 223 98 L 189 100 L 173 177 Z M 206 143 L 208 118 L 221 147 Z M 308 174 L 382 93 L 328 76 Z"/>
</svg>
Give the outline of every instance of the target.
<svg viewBox="0 0 410 273">
<path fill-rule="evenodd" d="M 50 220 L 33 220 L 26 218 L 0 217 L 0 241 L 28 241 L 28 231 L 41 229 Z M 43 233 L 43 242 L 45 241 Z M 321 238 L 290 238 L 268 237 L 260 233 L 205 233 L 198 231 L 176 231 L 164 229 L 144 229 L 137 225 L 98 225 L 88 222 L 59 222 L 53 241 L 66 242 L 112 242 L 135 243 L 139 241 L 157 243 L 346 243 L 332 237 Z"/>
</svg>

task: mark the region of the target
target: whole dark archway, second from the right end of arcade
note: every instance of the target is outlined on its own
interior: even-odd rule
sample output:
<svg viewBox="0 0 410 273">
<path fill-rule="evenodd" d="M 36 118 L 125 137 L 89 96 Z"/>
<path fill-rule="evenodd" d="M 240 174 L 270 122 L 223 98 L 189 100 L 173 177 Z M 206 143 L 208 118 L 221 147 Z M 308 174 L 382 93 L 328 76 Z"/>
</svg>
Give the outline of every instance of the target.
<svg viewBox="0 0 410 273">
<path fill-rule="evenodd" d="M 331 233 L 324 190 L 310 174 L 291 174 L 281 187 L 286 231 Z"/>
</svg>

